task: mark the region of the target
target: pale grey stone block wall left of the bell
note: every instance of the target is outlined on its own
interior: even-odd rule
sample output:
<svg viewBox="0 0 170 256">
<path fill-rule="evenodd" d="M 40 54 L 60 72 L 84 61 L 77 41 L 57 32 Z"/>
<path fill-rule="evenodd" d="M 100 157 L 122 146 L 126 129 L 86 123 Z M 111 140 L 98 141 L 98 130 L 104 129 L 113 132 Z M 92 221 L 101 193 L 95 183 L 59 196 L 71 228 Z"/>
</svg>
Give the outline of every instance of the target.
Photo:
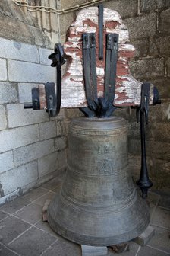
<svg viewBox="0 0 170 256">
<path fill-rule="evenodd" d="M 24 110 L 31 88 L 55 82 L 52 43 L 36 20 L 10 1 L 0 3 L 0 204 L 65 170 L 64 110 Z"/>
</svg>

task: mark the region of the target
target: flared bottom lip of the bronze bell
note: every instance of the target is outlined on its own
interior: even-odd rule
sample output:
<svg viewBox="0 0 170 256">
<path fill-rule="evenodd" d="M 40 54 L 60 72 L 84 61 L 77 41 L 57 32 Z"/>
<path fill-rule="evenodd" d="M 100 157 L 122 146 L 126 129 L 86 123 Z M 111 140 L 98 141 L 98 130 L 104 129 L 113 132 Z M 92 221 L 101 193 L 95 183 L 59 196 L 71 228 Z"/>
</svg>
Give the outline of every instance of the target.
<svg viewBox="0 0 170 256">
<path fill-rule="evenodd" d="M 49 222 L 49 226 L 55 231 L 58 235 L 61 235 L 62 237 L 70 240 L 71 242 L 75 242 L 80 245 L 92 245 L 92 246 L 109 246 L 109 245 L 116 245 L 120 244 L 122 242 L 129 242 L 133 240 L 134 238 L 137 238 L 139 235 L 141 235 L 147 228 L 147 226 L 150 225 L 150 211 L 149 211 L 149 205 L 147 204 L 146 200 L 143 200 L 142 197 L 136 192 L 137 199 L 135 200 L 135 203 L 133 203 L 133 206 L 138 203 L 140 206 L 144 206 L 145 211 L 143 212 L 143 217 L 140 219 L 140 222 L 135 222 L 132 229 L 128 230 L 128 232 L 124 232 L 121 234 L 114 235 L 114 232 L 110 234 L 109 236 L 102 235 L 100 237 L 94 236 L 94 235 L 87 235 L 87 234 L 81 234 L 77 231 L 74 231 L 73 229 L 70 229 L 67 226 L 62 226 L 62 223 L 58 222 L 58 219 L 54 218 L 53 213 L 56 213 L 56 207 L 57 206 L 54 202 L 56 198 L 59 198 L 60 195 L 56 194 L 54 199 L 49 203 L 49 207 L 47 210 L 47 220 Z M 57 206 L 58 208 L 58 206 Z M 103 242 L 105 241 L 105 242 Z"/>
</svg>

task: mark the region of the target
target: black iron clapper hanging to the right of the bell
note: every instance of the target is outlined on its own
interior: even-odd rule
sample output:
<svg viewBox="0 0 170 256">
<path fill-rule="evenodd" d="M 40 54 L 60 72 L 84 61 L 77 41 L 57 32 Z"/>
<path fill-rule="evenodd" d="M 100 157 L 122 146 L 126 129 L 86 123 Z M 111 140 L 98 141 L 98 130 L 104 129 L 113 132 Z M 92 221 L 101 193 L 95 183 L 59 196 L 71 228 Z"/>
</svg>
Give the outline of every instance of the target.
<svg viewBox="0 0 170 256">
<path fill-rule="evenodd" d="M 142 190 L 142 197 L 147 197 L 147 191 L 153 186 L 150 181 L 147 162 L 146 162 L 146 139 L 145 139 L 145 123 L 148 123 L 148 107 L 150 99 L 150 83 L 143 83 L 141 88 L 141 104 L 137 107 L 137 123 L 139 122 L 140 115 L 140 139 L 141 139 L 141 169 L 140 179 L 137 181 L 137 186 Z"/>
</svg>

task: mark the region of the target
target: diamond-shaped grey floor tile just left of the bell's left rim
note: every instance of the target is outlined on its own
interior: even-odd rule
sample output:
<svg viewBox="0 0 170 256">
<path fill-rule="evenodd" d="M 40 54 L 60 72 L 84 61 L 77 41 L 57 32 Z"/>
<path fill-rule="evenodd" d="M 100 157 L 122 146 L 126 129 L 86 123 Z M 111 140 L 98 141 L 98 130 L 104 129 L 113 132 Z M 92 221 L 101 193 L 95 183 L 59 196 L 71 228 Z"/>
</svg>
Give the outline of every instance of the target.
<svg viewBox="0 0 170 256">
<path fill-rule="evenodd" d="M 35 224 L 42 219 L 42 206 L 36 203 L 31 203 L 14 215 L 30 224 Z"/>
</svg>

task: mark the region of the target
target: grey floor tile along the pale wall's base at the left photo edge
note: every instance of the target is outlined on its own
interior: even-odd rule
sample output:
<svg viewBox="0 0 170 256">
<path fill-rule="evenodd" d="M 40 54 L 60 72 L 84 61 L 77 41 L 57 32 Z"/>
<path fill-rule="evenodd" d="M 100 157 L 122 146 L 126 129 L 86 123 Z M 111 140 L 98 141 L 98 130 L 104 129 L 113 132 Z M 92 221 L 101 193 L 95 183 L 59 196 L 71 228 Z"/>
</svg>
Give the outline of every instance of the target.
<svg viewBox="0 0 170 256">
<path fill-rule="evenodd" d="M 21 197 L 17 197 L 13 201 L 5 203 L 5 205 L 2 206 L 1 210 L 4 210 L 6 213 L 15 213 L 17 210 L 20 210 L 24 206 L 27 206 L 27 204 L 29 203 L 30 201 Z"/>
</svg>

